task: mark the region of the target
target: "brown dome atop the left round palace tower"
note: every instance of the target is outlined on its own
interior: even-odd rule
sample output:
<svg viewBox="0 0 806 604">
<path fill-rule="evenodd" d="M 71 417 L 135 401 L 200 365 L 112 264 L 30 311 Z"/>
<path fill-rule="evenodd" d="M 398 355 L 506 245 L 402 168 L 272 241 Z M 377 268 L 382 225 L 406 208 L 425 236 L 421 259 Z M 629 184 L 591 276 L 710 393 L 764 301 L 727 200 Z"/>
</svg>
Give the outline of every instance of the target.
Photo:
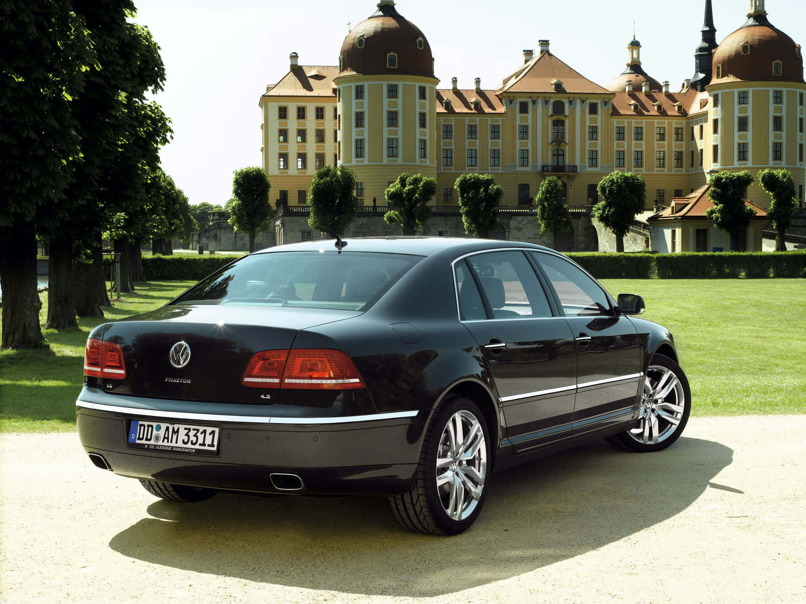
<svg viewBox="0 0 806 604">
<path fill-rule="evenodd" d="M 392 52 L 397 55 L 397 68 L 387 65 Z M 434 77 L 434 60 L 422 31 L 401 17 L 394 2 L 381 0 L 378 10 L 344 39 L 339 76 L 393 73 Z"/>
</svg>

